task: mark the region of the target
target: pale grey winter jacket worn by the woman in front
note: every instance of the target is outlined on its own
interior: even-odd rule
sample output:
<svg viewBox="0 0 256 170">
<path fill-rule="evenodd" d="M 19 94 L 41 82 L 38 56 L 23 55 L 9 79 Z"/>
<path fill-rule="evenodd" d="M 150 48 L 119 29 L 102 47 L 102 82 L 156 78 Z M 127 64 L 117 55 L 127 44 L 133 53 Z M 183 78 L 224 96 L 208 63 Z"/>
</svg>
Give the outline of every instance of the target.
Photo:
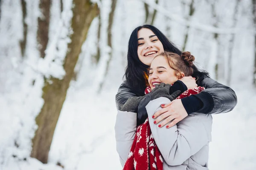
<svg viewBox="0 0 256 170">
<path fill-rule="evenodd" d="M 168 104 L 160 97 L 146 106 L 149 125 L 163 158 L 163 170 L 208 170 L 209 142 L 211 141 L 212 115 L 192 113 L 177 125 L 167 129 L 154 124 L 152 115 Z M 122 167 L 134 141 L 137 113 L 118 111 L 116 116 L 116 150 Z"/>
</svg>

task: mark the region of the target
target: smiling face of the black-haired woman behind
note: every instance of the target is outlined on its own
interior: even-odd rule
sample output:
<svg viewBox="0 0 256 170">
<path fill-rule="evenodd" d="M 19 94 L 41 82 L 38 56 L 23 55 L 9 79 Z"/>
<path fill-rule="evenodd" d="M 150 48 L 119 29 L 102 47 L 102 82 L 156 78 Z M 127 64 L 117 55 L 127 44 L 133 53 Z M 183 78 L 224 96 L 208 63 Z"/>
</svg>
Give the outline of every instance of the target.
<svg viewBox="0 0 256 170">
<path fill-rule="evenodd" d="M 163 52 L 163 44 L 150 29 L 138 31 L 138 56 L 141 62 L 150 66 L 154 57 Z"/>
</svg>

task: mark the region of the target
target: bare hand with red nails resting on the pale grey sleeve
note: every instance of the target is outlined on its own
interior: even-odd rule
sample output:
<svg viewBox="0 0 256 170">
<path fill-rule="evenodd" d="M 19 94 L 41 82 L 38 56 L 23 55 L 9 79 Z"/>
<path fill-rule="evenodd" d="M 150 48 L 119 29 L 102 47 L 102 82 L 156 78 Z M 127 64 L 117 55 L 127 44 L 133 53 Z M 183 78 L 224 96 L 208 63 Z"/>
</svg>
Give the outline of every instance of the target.
<svg viewBox="0 0 256 170">
<path fill-rule="evenodd" d="M 161 107 L 163 107 L 163 109 L 157 111 L 152 117 L 155 118 L 154 124 L 158 124 L 160 121 L 162 121 L 158 127 L 163 127 L 172 121 L 166 126 L 166 128 L 170 128 L 179 121 L 183 120 L 183 118 L 186 118 L 188 115 L 180 99 L 176 99 L 166 105 L 163 104 Z"/>
</svg>

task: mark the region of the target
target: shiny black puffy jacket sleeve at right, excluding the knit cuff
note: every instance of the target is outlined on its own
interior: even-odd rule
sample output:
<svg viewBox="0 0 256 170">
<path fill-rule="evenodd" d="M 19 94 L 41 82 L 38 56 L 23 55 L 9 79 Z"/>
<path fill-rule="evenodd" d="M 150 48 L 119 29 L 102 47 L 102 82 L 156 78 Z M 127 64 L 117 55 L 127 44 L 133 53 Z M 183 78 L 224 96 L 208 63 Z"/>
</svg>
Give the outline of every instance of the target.
<svg viewBox="0 0 256 170">
<path fill-rule="evenodd" d="M 203 108 L 197 112 L 205 114 L 230 112 L 237 104 L 237 97 L 234 90 L 218 83 L 212 78 L 204 77 L 198 86 L 204 86 L 206 89 L 195 95 L 204 104 Z"/>
</svg>

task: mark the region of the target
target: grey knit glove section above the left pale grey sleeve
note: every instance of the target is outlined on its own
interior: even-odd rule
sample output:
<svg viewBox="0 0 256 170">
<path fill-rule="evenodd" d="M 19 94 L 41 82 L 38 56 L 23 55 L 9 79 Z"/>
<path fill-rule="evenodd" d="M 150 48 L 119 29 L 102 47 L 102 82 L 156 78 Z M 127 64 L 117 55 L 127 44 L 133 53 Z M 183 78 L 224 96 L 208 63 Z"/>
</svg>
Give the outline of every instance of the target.
<svg viewBox="0 0 256 170">
<path fill-rule="evenodd" d="M 134 96 L 130 97 L 125 104 L 121 107 L 120 111 L 127 111 L 127 112 L 136 112 L 138 111 L 138 106 L 140 104 L 140 101 L 145 97 L 144 96 Z"/>
</svg>

